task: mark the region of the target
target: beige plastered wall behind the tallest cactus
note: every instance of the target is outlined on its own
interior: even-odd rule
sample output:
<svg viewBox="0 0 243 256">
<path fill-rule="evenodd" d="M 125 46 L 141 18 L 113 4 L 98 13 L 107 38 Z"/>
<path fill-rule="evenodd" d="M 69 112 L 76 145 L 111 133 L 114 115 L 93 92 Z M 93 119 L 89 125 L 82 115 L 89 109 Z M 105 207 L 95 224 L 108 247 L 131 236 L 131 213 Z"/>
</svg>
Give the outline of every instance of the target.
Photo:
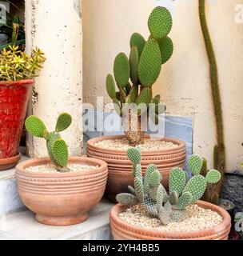
<svg viewBox="0 0 243 256">
<path fill-rule="evenodd" d="M 243 24 L 234 21 L 239 0 L 208 0 L 207 15 L 215 46 L 225 120 L 227 168 L 243 161 Z M 168 114 L 193 117 L 193 150 L 212 164 L 216 143 L 209 66 L 198 18 L 197 0 L 174 1 L 171 37 L 173 58 L 165 64 L 154 88 L 166 103 Z M 83 0 L 84 102 L 97 96 L 106 101 L 106 74 L 112 72 L 118 52 L 129 54 L 129 37 L 137 31 L 149 35 L 150 0 Z"/>
</svg>

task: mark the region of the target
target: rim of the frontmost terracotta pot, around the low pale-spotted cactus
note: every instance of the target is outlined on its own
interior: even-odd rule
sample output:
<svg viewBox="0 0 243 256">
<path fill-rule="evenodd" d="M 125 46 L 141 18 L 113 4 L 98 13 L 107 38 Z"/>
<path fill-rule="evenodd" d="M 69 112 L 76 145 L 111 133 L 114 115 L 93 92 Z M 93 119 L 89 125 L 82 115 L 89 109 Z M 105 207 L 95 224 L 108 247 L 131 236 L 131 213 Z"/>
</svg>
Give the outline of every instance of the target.
<svg viewBox="0 0 243 256">
<path fill-rule="evenodd" d="M 217 214 L 221 215 L 221 217 L 223 218 L 223 221 L 217 226 L 213 226 L 209 229 L 198 230 L 198 231 L 171 232 L 171 231 L 157 231 L 157 230 L 143 229 L 138 226 L 133 226 L 133 225 L 121 220 L 121 218 L 119 218 L 118 214 L 120 214 L 122 211 L 124 211 L 126 208 L 128 208 L 127 206 L 122 206 L 120 203 L 115 205 L 110 210 L 110 220 L 113 219 L 114 222 L 116 222 L 119 227 L 121 227 L 121 228 L 125 227 L 125 230 L 132 230 L 133 233 L 135 233 L 135 234 L 146 234 L 147 236 L 150 236 L 150 237 L 181 238 L 181 239 L 189 238 L 189 237 L 195 238 L 196 236 L 193 237 L 192 234 L 197 233 L 197 238 L 200 238 L 200 237 L 204 237 L 205 233 L 208 233 L 208 234 L 213 234 L 215 232 L 220 233 L 220 232 L 224 231 L 225 228 L 227 228 L 227 227 L 229 227 L 229 229 L 230 229 L 231 217 L 226 210 L 224 210 L 220 206 L 216 206 L 210 202 L 205 202 L 205 201 L 201 201 L 201 200 L 198 200 L 196 202 L 196 204 L 197 204 L 197 206 L 201 206 L 202 208 L 213 210 L 213 211 L 217 212 Z M 217 230 L 217 231 L 215 231 L 215 230 Z"/>
</svg>

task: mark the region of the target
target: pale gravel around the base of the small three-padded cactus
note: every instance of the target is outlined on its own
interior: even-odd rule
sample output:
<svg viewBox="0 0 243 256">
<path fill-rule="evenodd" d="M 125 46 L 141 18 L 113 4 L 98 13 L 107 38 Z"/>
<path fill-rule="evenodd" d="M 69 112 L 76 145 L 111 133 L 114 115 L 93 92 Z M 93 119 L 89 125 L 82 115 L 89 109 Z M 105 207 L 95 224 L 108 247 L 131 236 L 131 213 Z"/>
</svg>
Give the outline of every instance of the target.
<svg viewBox="0 0 243 256">
<path fill-rule="evenodd" d="M 67 166 L 70 169 L 70 172 L 82 172 L 87 169 L 96 169 L 98 166 L 88 166 L 81 164 L 68 164 Z M 46 164 L 41 166 L 31 166 L 25 169 L 26 171 L 34 172 L 34 173 L 57 173 L 58 170 L 55 169 L 55 166 L 52 164 Z"/>
</svg>

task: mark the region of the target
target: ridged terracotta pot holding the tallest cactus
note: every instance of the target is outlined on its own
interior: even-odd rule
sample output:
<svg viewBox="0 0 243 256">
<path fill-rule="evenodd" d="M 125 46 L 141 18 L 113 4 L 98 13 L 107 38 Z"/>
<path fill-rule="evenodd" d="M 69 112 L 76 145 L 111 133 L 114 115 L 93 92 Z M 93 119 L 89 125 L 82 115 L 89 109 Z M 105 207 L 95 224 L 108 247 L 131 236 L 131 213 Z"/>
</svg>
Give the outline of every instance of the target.
<svg viewBox="0 0 243 256">
<path fill-rule="evenodd" d="M 95 143 L 106 139 L 125 138 L 125 136 L 106 136 L 92 138 L 87 144 L 87 156 L 101 159 L 108 164 L 109 174 L 106 186 L 106 196 L 112 202 L 116 202 L 115 197 L 121 192 L 127 192 L 127 186 L 133 186 L 132 163 L 126 156 L 125 150 L 108 150 L 96 146 Z M 176 143 L 177 148 L 169 150 L 142 151 L 141 167 L 142 173 L 150 163 L 157 165 L 157 169 L 162 174 L 162 183 L 168 188 L 169 171 L 175 167 L 184 167 L 186 149 L 185 142 L 176 138 L 162 138 L 166 142 Z"/>
</svg>

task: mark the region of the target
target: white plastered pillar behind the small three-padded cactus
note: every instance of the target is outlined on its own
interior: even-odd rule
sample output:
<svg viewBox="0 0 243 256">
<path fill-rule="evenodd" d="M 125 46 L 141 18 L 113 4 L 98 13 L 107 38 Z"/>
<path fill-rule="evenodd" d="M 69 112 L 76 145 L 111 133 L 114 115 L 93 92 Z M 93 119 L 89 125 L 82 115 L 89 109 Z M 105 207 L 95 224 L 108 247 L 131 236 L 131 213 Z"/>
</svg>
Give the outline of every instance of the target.
<svg viewBox="0 0 243 256">
<path fill-rule="evenodd" d="M 26 0 L 26 51 L 38 46 L 46 54 L 36 78 L 36 103 L 30 113 L 54 130 L 58 114 L 67 112 L 73 124 L 62 132 L 70 155 L 82 154 L 82 13 L 81 0 Z M 46 156 L 46 142 L 28 136 L 31 157 Z"/>
</svg>

